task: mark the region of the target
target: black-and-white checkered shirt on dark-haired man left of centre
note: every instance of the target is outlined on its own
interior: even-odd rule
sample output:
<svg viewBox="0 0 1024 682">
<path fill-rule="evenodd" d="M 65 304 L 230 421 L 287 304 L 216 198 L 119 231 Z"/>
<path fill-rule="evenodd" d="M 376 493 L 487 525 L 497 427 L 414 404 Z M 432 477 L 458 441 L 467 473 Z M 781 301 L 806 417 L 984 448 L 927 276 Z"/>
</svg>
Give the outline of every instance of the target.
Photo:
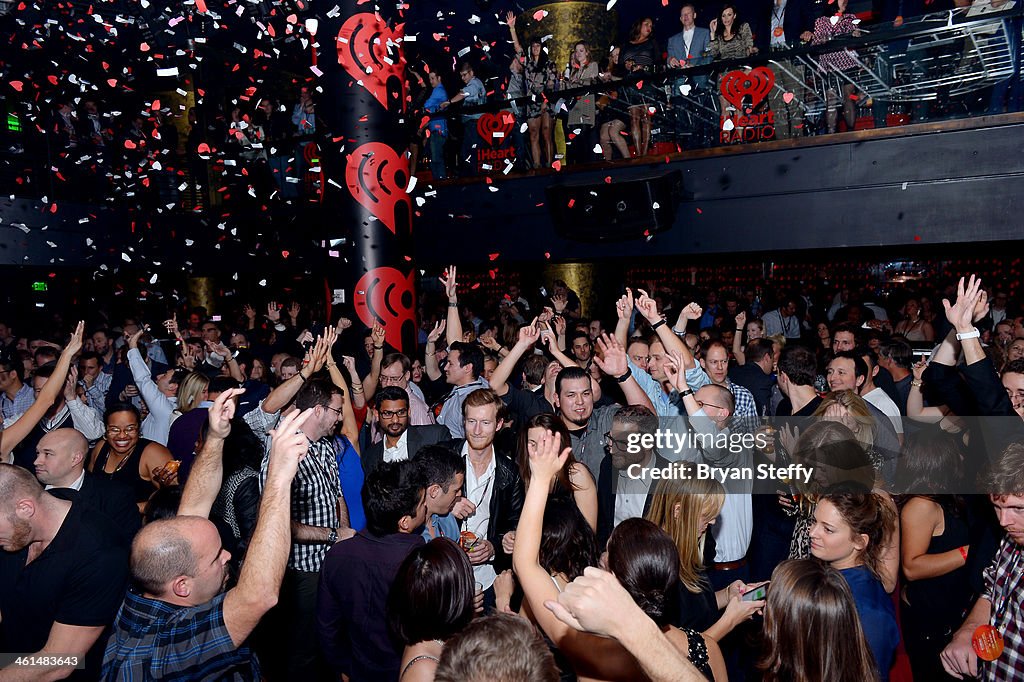
<svg viewBox="0 0 1024 682">
<path fill-rule="evenodd" d="M 253 412 L 262 412 L 262 409 Z M 260 487 L 266 483 L 270 463 L 270 438 L 260 467 Z M 292 520 L 321 528 L 338 527 L 338 499 L 341 497 L 341 475 L 338 473 L 338 452 L 334 439 L 321 438 L 309 443 L 309 452 L 299 462 L 292 481 Z M 292 543 L 288 567 L 310 573 L 319 572 L 330 543 Z"/>
</svg>

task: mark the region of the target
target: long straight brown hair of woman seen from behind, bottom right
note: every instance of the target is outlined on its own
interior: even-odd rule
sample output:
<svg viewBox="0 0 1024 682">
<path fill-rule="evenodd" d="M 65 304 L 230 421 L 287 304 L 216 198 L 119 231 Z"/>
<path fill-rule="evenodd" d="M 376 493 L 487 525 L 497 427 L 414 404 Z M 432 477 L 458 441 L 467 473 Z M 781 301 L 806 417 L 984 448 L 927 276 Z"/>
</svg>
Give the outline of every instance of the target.
<svg viewBox="0 0 1024 682">
<path fill-rule="evenodd" d="M 849 585 L 817 561 L 790 559 L 775 568 L 764 639 L 764 682 L 879 680 Z"/>
</svg>

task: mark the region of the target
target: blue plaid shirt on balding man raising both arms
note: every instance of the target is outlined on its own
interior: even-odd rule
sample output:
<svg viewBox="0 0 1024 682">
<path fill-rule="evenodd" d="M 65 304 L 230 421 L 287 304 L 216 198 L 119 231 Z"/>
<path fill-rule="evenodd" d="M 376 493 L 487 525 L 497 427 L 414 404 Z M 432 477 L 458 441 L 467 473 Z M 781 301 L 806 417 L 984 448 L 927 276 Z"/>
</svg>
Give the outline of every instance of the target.
<svg viewBox="0 0 1024 682">
<path fill-rule="evenodd" d="M 224 595 L 175 606 L 128 592 L 103 656 L 104 682 L 259 680 L 248 647 L 236 648 L 224 625 Z"/>
</svg>

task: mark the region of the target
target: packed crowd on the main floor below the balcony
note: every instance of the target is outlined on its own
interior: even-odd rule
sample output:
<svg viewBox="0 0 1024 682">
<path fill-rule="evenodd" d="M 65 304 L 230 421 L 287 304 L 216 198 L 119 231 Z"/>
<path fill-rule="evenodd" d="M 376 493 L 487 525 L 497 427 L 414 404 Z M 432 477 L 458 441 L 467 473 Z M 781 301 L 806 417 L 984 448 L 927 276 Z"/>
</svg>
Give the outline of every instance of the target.
<svg viewBox="0 0 1024 682">
<path fill-rule="evenodd" d="M 0 679 L 1016 679 L 1010 292 L 653 284 L 0 324 Z"/>
</svg>

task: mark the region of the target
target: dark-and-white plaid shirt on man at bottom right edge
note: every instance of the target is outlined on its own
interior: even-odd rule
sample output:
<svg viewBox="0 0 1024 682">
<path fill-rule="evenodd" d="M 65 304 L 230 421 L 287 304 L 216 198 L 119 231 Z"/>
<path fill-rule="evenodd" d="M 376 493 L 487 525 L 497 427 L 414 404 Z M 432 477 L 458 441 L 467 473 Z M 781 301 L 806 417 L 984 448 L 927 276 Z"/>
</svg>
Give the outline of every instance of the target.
<svg viewBox="0 0 1024 682">
<path fill-rule="evenodd" d="M 1024 548 L 1004 538 L 995 559 L 985 569 L 984 580 L 981 598 L 992 604 L 988 623 L 1002 633 L 1005 648 L 995 660 L 978 660 L 981 679 L 1024 680 L 1024 606 L 1020 592 L 1024 587 Z"/>
</svg>

